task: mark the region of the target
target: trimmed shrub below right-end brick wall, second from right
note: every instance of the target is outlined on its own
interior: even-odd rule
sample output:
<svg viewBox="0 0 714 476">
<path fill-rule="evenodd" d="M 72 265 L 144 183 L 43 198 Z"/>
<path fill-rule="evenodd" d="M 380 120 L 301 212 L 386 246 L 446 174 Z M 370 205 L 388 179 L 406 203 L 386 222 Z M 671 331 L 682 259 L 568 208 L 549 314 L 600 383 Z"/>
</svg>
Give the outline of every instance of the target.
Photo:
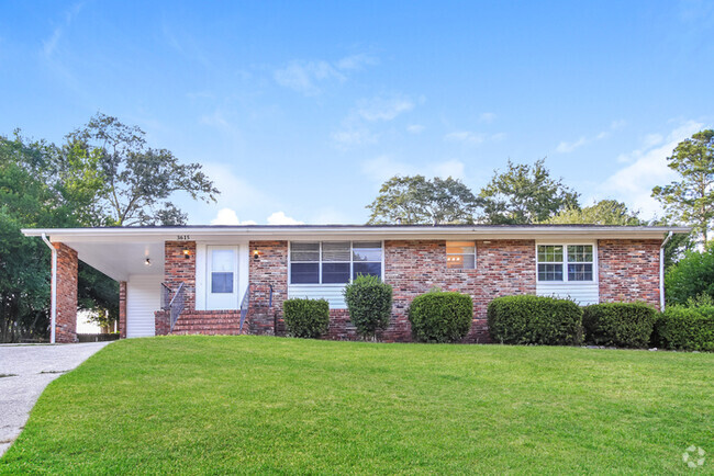
<svg viewBox="0 0 714 476">
<path fill-rule="evenodd" d="M 646 348 L 657 311 L 645 303 L 603 303 L 582 309 L 585 341 L 595 345 Z"/>
</svg>

